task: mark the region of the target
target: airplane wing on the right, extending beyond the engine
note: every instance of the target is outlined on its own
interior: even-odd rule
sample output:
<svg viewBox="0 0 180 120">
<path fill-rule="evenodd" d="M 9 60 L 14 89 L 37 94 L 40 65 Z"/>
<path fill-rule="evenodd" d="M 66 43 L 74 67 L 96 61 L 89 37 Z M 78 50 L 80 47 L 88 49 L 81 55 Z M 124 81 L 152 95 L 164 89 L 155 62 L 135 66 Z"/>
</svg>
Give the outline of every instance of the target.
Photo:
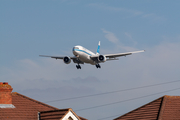
<svg viewBox="0 0 180 120">
<path fill-rule="evenodd" d="M 134 51 L 134 52 L 126 52 L 126 53 L 116 53 L 116 54 L 106 54 L 104 55 L 106 58 L 116 58 L 116 57 L 121 57 L 121 56 L 126 56 L 126 55 L 131 55 L 133 53 L 140 53 L 144 52 L 145 50 L 141 51 Z M 113 59 L 112 59 L 113 60 Z"/>
</svg>

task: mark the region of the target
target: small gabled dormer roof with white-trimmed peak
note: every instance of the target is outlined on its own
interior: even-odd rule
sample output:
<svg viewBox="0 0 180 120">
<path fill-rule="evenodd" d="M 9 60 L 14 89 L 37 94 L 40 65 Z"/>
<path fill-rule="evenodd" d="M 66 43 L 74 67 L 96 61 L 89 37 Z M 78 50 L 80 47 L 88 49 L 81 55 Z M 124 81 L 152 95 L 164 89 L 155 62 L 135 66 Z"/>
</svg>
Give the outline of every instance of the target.
<svg viewBox="0 0 180 120">
<path fill-rule="evenodd" d="M 77 120 L 87 120 L 85 118 L 77 116 L 71 108 L 40 112 L 41 120 L 64 120 L 65 118 L 69 117 L 75 117 Z"/>
</svg>

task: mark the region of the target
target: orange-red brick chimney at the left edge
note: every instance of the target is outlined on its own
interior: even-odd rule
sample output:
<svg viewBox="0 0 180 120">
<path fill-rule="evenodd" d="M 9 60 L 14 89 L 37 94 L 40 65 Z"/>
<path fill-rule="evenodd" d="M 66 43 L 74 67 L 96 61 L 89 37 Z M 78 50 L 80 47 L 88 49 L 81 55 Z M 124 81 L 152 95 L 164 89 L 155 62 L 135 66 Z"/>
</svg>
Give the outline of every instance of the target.
<svg viewBox="0 0 180 120">
<path fill-rule="evenodd" d="M 8 106 L 12 105 L 12 92 L 13 88 L 7 82 L 0 82 L 0 104 Z"/>
</svg>

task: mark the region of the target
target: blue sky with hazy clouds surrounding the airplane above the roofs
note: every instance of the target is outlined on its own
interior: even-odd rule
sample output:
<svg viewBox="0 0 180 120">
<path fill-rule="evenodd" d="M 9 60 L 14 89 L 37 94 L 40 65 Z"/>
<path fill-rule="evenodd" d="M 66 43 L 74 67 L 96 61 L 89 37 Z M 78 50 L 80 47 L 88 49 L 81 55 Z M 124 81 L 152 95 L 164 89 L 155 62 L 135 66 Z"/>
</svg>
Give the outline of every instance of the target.
<svg viewBox="0 0 180 120">
<path fill-rule="evenodd" d="M 180 96 L 174 82 L 81 99 L 66 98 L 180 80 L 180 1 L 1 0 L 0 81 L 13 92 L 89 120 L 112 120 L 163 95 Z M 72 56 L 82 45 L 101 54 L 145 50 L 101 64 L 101 69 L 39 55 Z M 141 99 L 133 99 L 151 95 Z M 101 106 L 94 106 L 126 102 Z M 54 102 L 48 102 L 54 101 Z"/>
</svg>

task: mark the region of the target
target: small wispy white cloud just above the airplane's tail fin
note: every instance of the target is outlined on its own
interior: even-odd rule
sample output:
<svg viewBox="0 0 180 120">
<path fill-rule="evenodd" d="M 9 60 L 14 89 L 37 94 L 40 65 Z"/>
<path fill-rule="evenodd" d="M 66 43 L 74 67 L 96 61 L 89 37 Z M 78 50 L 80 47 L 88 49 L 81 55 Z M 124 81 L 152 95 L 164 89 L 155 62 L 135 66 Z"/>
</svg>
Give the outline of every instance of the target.
<svg viewBox="0 0 180 120">
<path fill-rule="evenodd" d="M 112 43 L 118 43 L 118 38 L 114 35 L 114 33 L 109 32 L 105 29 L 101 29 L 103 33 L 106 33 L 105 38 L 107 38 Z"/>
</svg>

